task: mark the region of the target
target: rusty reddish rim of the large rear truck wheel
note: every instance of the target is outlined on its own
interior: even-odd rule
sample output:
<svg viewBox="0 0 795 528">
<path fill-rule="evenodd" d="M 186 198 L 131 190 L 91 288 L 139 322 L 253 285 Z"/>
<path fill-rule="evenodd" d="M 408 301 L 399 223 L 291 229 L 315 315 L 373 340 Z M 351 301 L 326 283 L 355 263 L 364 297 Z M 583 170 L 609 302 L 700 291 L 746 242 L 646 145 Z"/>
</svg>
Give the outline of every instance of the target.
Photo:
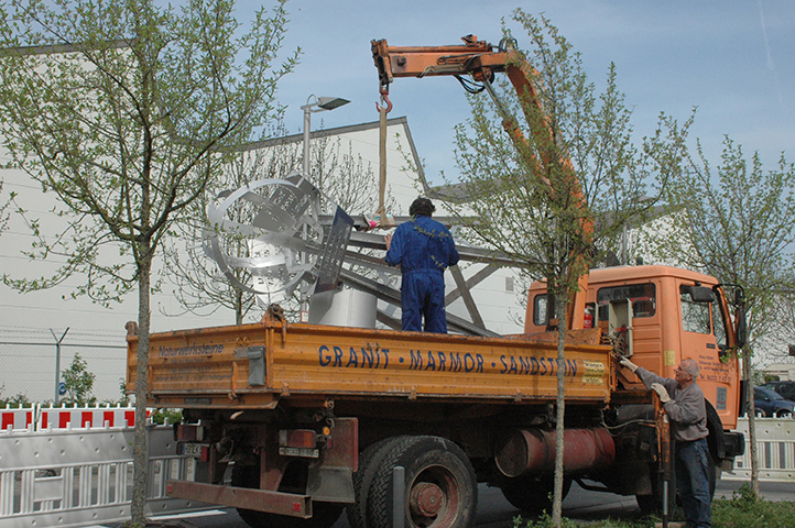
<svg viewBox="0 0 795 528">
<path fill-rule="evenodd" d="M 454 527 L 461 501 L 455 475 L 440 465 L 425 468 L 412 481 L 407 493 L 411 526 L 417 528 Z"/>
</svg>

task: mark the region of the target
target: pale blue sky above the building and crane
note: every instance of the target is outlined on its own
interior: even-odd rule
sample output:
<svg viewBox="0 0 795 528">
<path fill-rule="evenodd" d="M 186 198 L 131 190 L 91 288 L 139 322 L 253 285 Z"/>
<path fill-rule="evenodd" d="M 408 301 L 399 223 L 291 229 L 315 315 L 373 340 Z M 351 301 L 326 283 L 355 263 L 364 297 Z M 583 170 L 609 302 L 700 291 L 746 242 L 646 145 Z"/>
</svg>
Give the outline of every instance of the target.
<svg viewBox="0 0 795 528">
<path fill-rule="evenodd" d="M 251 4 L 240 4 L 247 10 Z M 610 62 L 619 88 L 634 109 L 638 138 L 654 131 L 658 112 L 684 121 L 698 107 L 691 136 L 718 162 L 723 134 L 759 151 L 774 168 L 786 151 L 795 161 L 795 2 L 792 0 L 644 1 L 524 0 L 291 0 L 285 46 L 303 48 L 302 64 L 284 80 L 291 133 L 303 127 L 300 107 L 311 95 L 351 103 L 313 114 L 313 129 L 375 121 L 378 79 L 370 41 L 391 45 L 457 44 L 473 33 L 500 40 L 501 18 L 518 7 L 544 13 L 582 54 L 601 85 Z M 514 26 L 520 46 L 529 47 Z M 390 117 L 406 116 L 432 180 L 439 170 L 458 174 L 453 127 L 468 117 L 462 89 L 453 78 L 396 79 Z"/>
</svg>

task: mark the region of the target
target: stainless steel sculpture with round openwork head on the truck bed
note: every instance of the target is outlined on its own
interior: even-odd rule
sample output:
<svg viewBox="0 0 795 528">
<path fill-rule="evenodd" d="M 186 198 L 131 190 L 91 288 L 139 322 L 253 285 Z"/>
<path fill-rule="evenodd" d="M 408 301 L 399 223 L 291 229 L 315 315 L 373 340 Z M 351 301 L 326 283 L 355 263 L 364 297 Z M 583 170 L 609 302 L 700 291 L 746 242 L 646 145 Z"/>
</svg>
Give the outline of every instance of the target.
<svg viewBox="0 0 795 528">
<path fill-rule="evenodd" d="M 333 205 L 335 215 L 322 215 L 322 198 Z M 392 280 L 400 271 L 370 251 L 385 250 L 383 234 L 368 232 L 373 228 L 368 218 L 349 217 L 298 173 L 225 190 L 207 208 L 207 218 L 209 227 L 203 232 L 205 253 L 230 284 L 255 294 L 262 306 L 281 302 L 296 290 L 302 300 L 315 293 L 328 296 L 342 285 L 371 294 L 382 304 L 401 305 L 400 292 L 393 286 L 396 280 Z M 446 218 L 437 219 L 451 223 Z M 394 220 L 400 224 L 409 218 Z M 515 263 L 466 245 L 459 245 L 459 253 L 461 261 L 486 266 L 469 279 L 458 266 L 450 268 L 457 288 L 447 294 L 448 304 L 462 297 L 471 321 L 448 311 L 448 328 L 467 334 L 495 336 L 483 328 L 475 304 L 466 300 L 471 299 L 469 288 L 498 267 Z M 246 275 L 251 276 L 250 284 L 239 278 Z M 400 320 L 381 308 L 378 321 L 400 329 Z"/>
</svg>

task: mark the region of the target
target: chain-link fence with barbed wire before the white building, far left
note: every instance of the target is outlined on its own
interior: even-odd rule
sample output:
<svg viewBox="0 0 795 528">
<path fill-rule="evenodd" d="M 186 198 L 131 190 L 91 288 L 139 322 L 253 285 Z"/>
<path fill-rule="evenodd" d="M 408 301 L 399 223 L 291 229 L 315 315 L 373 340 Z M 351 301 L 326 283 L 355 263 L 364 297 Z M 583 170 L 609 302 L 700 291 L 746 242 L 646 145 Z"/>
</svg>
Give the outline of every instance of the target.
<svg viewBox="0 0 795 528">
<path fill-rule="evenodd" d="M 0 327 L 0 399 L 63 399 L 63 372 L 76 354 L 96 376 L 90 396 L 98 403 L 119 402 L 127 367 L 123 334 L 19 327 Z"/>
</svg>

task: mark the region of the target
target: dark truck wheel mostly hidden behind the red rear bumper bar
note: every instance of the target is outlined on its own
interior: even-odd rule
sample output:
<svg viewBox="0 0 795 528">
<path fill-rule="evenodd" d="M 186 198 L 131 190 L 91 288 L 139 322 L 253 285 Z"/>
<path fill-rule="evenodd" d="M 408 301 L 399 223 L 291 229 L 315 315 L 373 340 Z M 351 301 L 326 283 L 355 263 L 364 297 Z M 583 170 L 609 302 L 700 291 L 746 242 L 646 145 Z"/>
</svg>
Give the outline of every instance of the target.
<svg viewBox="0 0 795 528">
<path fill-rule="evenodd" d="M 232 468 L 232 486 L 259 487 L 260 469 L 257 465 L 237 465 Z M 342 514 L 344 504 L 312 503 L 312 518 L 298 519 L 285 515 L 237 508 L 243 522 L 251 528 L 331 528 Z"/>
</svg>

